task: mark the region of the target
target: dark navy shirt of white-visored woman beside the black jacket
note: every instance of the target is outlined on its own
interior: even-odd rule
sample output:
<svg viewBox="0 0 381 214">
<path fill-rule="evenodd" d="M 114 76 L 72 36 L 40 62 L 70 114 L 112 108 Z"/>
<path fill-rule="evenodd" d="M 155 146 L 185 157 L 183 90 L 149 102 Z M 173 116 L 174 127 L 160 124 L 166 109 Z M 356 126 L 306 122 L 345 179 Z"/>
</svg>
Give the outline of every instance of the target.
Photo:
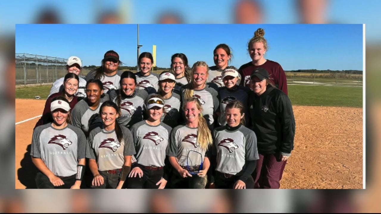
<svg viewBox="0 0 381 214">
<path fill-rule="evenodd" d="M 226 105 L 229 102 L 234 100 L 239 100 L 242 102 L 245 107 L 245 119 L 249 120 L 249 109 L 248 109 L 248 97 L 249 97 L 250 89 L 243 86 L 237 86 L 235 89 L 227 89 L 225 86 L 219 88 L 218 90 L 218 100 L 219 100 L 219 118 L 218 123 L 221 126 L 226 125 L 226 114 L 225 109 Z"/>
</svg>

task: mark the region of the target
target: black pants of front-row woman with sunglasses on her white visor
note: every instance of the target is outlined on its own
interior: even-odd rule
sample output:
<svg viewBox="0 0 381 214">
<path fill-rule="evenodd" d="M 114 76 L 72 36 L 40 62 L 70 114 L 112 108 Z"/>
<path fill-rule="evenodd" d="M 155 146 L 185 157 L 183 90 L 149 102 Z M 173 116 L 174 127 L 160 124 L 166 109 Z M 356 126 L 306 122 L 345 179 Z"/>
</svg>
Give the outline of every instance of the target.
<svg viewBox="0 0 381 214">
<path fill-rule="evenodd" d="M 126 181 L 128 189 L 157 189 L 160 186 L 156 185 L 156 183 L 163 177 L 163 168 L 152 170 L 146 169 L 142 165 L 138 165 L 137 167 L 142 169 L 143 176 L 128 177 Z"/>
</svg>

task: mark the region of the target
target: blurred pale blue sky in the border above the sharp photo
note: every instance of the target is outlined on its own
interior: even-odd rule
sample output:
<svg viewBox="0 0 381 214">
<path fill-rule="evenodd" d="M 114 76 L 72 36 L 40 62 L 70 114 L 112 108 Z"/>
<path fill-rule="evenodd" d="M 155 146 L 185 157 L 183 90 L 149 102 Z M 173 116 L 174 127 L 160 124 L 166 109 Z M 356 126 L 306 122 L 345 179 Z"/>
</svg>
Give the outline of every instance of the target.
<svg viewBox="0 0 381 214">
<path fill-rule="evenodd" d="M 326 0 L 327 20 L 335 24 L 366 24 L 367 42 L 380 42 L 381 19 L 379 0 Z M 266 24 L 299 22 L 296 0 L 258 0 Z M 75 6 L 70 6 L 75 5 Z M 101 10 L 118 11 L 125 23 L 155 24 L 163 11 L 182 14 L 188 24 L 232 24 L 235 0 L 12 0 L 0 1 L 0 34 L 14 32 L 15 24 L 33 23 L 41 8 L 50 6 L 59 11 L 67 24 L 94 24 Z M 70 8 L 70 9 L 65 9 Z"/>
</svg>

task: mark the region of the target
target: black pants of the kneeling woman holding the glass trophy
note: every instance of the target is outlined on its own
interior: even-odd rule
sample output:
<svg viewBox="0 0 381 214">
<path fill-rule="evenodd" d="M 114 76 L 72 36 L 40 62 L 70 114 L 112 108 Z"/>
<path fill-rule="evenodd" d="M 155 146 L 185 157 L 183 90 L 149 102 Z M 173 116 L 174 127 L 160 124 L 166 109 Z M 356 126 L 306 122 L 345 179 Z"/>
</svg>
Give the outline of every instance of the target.
<svg viewBox="0 0 381 214">
<path fill-rule="evenodd" d="M 173 189 L 205 189 L 207 181 L 207 176 L 192 175 L 192 177 L 180 177 L 177 171 L 173 171 L 170 178 L 170 186 Z"/>
</svg>

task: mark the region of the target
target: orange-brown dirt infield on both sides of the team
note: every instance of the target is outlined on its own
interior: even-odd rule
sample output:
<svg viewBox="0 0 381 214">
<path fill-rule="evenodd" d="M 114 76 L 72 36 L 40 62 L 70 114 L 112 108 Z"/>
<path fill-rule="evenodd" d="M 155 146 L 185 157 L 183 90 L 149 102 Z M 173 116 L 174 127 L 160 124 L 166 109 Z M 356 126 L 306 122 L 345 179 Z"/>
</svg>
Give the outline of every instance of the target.
<svg viewBox="0 0 381 214">
<path fill-rule="evenodd" d="M 41 115 L 45 100 L 16 99 L 16 122 Z M 295 149 L 281 188 L 359 189 L 363 182 L 362 108 L 293 106 Z M 16 188 L 35 188 L 30 160 L 38 118 L 16 125 Z"/>
</svg>

